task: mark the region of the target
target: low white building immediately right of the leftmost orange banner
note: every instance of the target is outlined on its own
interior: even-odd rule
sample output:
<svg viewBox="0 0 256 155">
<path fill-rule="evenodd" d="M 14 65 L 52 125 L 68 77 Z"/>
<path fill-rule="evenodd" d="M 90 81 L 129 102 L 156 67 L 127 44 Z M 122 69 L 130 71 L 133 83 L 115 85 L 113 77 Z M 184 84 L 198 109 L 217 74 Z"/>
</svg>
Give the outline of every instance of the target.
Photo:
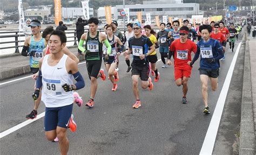
<svg viewBox="0 0 256 155">
<path fill-rule="evenodd" d="M 89 15 L 93 17 L 93 8 L 89 8 Z M 84 18 L 83 8 L 65 8 L 62 7 L 62 18 L 77 19 Z"/>
</svg>

